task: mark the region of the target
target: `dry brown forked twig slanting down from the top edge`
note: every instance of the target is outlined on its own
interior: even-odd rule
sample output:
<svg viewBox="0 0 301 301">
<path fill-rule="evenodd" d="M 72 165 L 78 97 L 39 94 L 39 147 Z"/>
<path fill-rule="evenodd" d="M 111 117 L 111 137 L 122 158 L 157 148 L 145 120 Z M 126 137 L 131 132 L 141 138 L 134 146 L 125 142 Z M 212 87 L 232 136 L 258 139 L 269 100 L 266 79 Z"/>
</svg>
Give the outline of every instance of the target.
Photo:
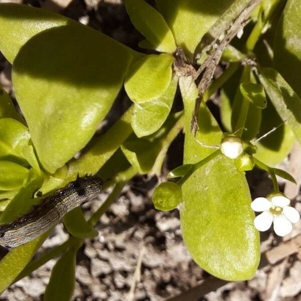
<svg viewBox="0 0 301 301">
<path fill-rule="evenodd" d="M 213 52 L 207 57 L 202 66 L 193 74 L 194 79 L 197 80 L 197 78 L 204 72 L 198 84 L 199 97 L 196 99 L 195 109 L 191 120 L 190 130 L 194 135 L 196 135 L 198 130 L 198 114 L 204 92 L 211 83 L 221 56 L 237 33 L 250 22 L 249 15 L 260 2 L 261 0 L 251 0 L 249 2 L 238 17 L 232 22 L 221 41 L 219 40 L 219 37 L 209 45 L 210 48 L 213 49 Z M 206 49 L 208 49 L 208 47 L 206 47 Z"/>
</svg>

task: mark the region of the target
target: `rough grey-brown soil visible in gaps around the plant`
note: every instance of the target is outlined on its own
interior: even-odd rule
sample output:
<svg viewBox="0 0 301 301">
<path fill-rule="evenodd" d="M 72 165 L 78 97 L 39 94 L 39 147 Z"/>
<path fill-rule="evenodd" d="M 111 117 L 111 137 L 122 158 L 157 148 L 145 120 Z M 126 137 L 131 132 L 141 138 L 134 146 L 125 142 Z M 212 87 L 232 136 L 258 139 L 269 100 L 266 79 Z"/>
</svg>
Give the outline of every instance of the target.
<svg viewBox="0 0 301 301">
<path fill-rule="evenodd" d="M 5 2 L 0 0 L 1 2 Z M 9 1 L 11 2 L 11 1 Z M 16 0 L 16 3 L 21 1 Z M 131 25 L 121 0 L 25 0 L 23 3 L 58 12 L 64 16 L 99 30 L 121 43 L 136 50 L 141 35 Z M 11 65 L 0 54 L 0 83 L 11 93 Z M 215 101 L 218 103 L 218 100 Z M 124 91 L 113 107 L 107 122 L 110 124 L 128 105 Z M 171 147 L 166 168 L 175 167 L 182 154 L 183 135 L 180 135 Z M 289 158 L 281 168 L 291 172 L 300 182 L 297 168 L 300 163 L 300 147 L 295 146 Z M 267 175 L 258 170 L 247 174 L 252 197 L 264 196 L 272 190 Z M 296 208 L 301 211 L 299 185 L 291 186 L 280 182 L 281 188 L 291 195 Z M 197 266 L 188 254 L 182 240 L 179 212 L 156 211 L 151 196 L 156 179 L 136 177 L 125 187 L 120 198 L 100 219 L 97 230 L 99 236 L 86 240 L 79 250 L 76 267 L 76 286 L 74 300 L 129 300 L 129 290 L 137 277 L 134 276 L 138 258 L 142 262 L 138 269 L 137 281 L 132 300 L 166 300 L 181 294 L 211 279 L 209 274 Z M 104 201 L 108 192 L 84 206 L 89 216 Z M 293 232 L 285 240 L 297 237 L 301 233 L 301 223 L 296 224 Z M 39 253 L 66 241 L 68 234 L 63 225 L 55 228 L 50 238 L 45 241 Z M 261 249 L 266 251 L 277 246 L 281 239 L 272 231 L 261 235 Z M 287 252 L 287 254 L 285 253 Z M 249 281 L 232 282 L 203 295 L 197 293 L 196 300 L 301 300 L 301 251 L 284 250 L 285 258 L 275 264 L 268 264 L 257 271 Z M 45 287 L 56 259 L 23 278 L 8 290 L 0 300 L 40 300 L 43 299 Z M 1 275 L 0 275 L 1 276 Z M 211 280 L 207 280 L 211 281 Z M 208 282 L 208 283 L 209 283 Z M 207 283 L 207 282 L 206 282 Z M 189 301 L 192 298 L 180 298 Z M 180 300 L 179 299 L 179 300 Z"/>
</svg>

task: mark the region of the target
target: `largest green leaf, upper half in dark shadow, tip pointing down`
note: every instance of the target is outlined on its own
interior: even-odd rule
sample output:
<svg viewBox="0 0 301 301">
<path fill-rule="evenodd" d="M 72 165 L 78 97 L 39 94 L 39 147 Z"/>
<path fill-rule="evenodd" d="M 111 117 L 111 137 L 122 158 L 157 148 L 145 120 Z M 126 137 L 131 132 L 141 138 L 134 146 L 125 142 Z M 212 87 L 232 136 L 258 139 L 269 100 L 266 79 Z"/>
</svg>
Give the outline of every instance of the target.
<svg viewBox="0 0 301 301">
<path fill-rule="evenodd" d="M 126 47 L 77 24 L 44 31 L 21 49 L 13 65 L 15 94 L 47 171 L 90 140 L 130 60 Z"/>
</svg>

